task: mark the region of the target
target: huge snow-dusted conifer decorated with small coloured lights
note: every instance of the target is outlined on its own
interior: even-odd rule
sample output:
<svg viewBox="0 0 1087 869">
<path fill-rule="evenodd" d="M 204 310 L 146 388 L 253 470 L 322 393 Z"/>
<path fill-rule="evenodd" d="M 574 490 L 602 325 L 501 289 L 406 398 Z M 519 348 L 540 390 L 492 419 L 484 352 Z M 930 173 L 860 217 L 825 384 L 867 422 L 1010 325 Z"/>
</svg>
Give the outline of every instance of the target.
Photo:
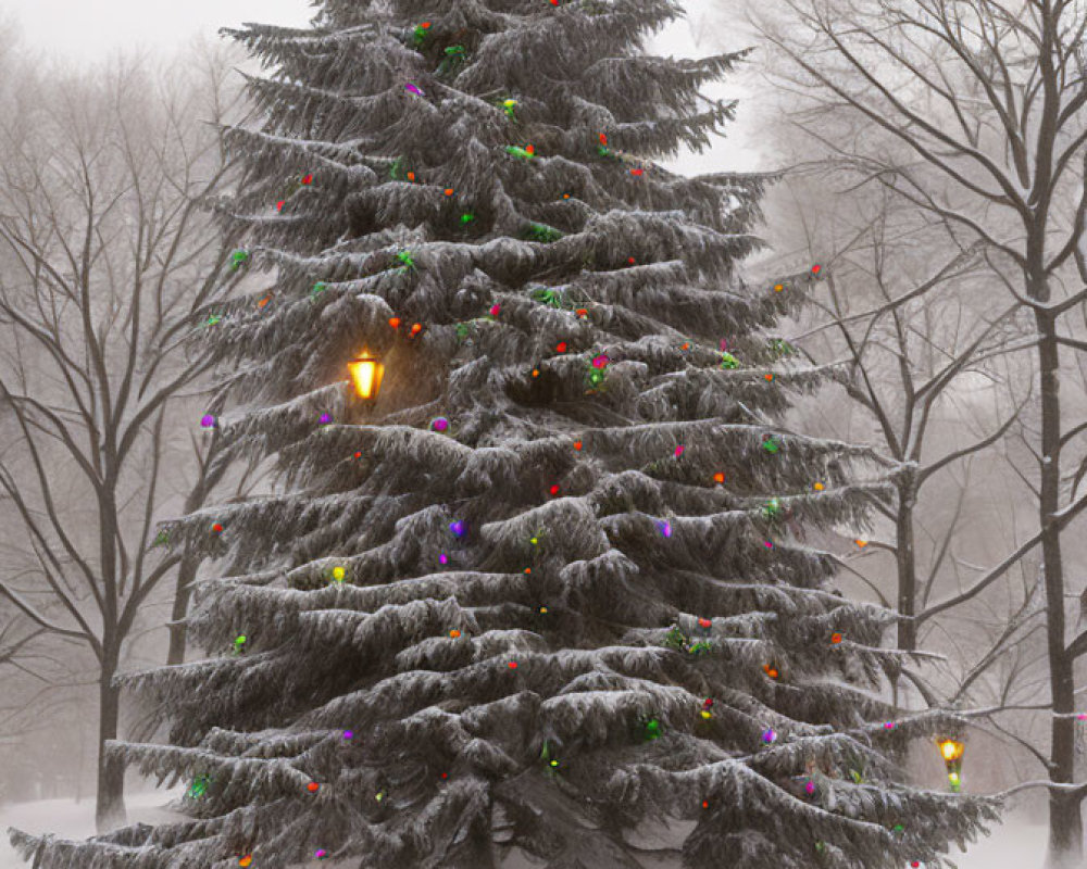
<svg viewBox="0 0 1087 869">
<path fill-rule="evenodd" d="M 730 117 L 698 91 L 738 55 L 646 56 L 673 0 L 318 5 L 233 34 L 273 71 L 266 124 L 228 133 L 230 276 L 274 285 L 201 330 L 230 366 L 217 437 L 280 489 L 170 529 L 223 559 L 191 622 L 211 657 L 129 677 L 170 744 L 115 747 L 191 781 L 191 820 L 23 853 L 940 865 L 991 808 L 903 782 L 940 716 L 895 720 L 887 614 L 800 538 L 880 487 L 770 421 L 819 380 L 769 331 L 813 275 L 737 274 L 764 179 L 650 162 Z"/>
</svg>

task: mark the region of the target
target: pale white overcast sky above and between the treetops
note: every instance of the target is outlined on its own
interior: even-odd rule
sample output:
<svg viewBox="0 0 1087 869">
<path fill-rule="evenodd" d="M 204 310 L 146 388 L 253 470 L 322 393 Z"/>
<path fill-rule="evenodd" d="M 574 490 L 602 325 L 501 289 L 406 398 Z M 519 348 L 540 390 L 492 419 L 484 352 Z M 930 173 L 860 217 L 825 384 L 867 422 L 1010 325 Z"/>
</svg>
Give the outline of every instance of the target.
<svg viewBox="0 0 1087 869">
<path fill-rule="evenodd" d="M 730 0 L 688 0 L 690 21 L 669 27 L 654 41 L 658 54 L 699 56 L 742 47 Z M 243 22 L 304 27 L 313 16 L 310 0 L 0 0 L 0 17 L 18 22 L 24 43 L 74 63 L 101 60 L 117 49 L 142 46 L 173 51 L 197 35 L 215 38 L 220 27 Z M 696 39 L 696 34 L 698 38 Z M 728 43 L 714 45 L 720 39 Z M 708 96 L 742 97 L 735 84 L 707 89 Z M 745 172 L 759 168 L 759 155 L 745 135 L 745 109 L 727 140 L 701 156 L 682 156 L 666 166 L 684 173 Z"/>
</svg>

